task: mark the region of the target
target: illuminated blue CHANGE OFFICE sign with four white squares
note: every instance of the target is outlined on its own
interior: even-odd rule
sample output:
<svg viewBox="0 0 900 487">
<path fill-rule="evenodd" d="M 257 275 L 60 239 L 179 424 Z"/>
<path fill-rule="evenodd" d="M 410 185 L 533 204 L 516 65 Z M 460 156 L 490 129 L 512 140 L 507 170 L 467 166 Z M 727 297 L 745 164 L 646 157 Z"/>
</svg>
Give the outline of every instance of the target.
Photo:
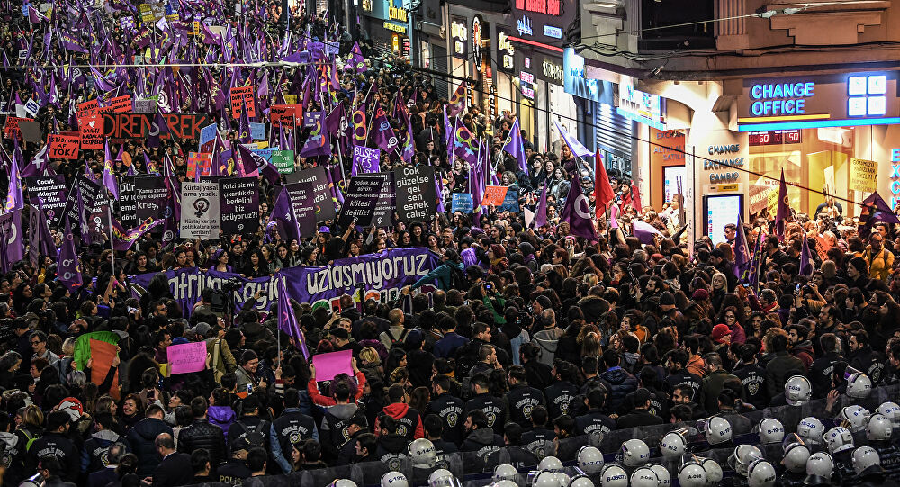
<svg viewBox="0 0 900 487">
<path fill-rule="evenodd" d="M 738 130 L 898 123 L 896 98 L 893 72 L 745 79 Z"/>
</svg>

